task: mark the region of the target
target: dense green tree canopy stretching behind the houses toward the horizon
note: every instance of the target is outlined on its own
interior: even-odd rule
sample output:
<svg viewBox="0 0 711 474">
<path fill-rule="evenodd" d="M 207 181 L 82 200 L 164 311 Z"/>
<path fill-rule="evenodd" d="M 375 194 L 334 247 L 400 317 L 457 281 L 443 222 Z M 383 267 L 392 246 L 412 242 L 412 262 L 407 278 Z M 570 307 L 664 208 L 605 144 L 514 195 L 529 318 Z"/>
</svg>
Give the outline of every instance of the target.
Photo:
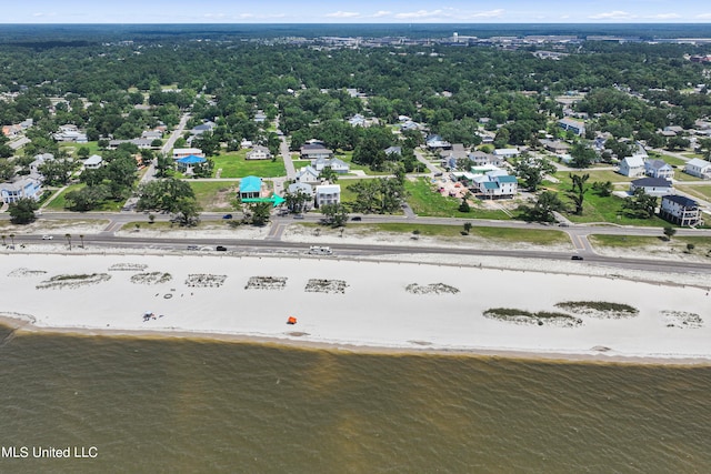
<svg viewBox="0 0 711 474">
<path fill-rule="evenodd" d="M 523 144 L 551 118 L 562 117 L 557 95 L 579 91 L 588 95 L 578 110 L 598 118 L 590 130 L 632 138 L 711 114 L 705 90 L 687 93 L 709 74 L 688 58 L 708 49 L 584 42 L 552 61 L 527 49 L 442 44 L 328 49 L 164 38 L 38 48 L 18 42 L 0 51 L 0 92 L 19 92 L 0 101 L 0 122 L 32 118 L 36 135 L 74 123 L 90 140 L 121 139 L 157 121 L 173 125 L 192 105 L 193 120 L 216 120 L 218 139 L 230 142 L 253 135 L 252 118 L 263 110 L 270 119 L 280 113 L 282 130 L 296 142 L 320 128 L 329 144 L 354 149 L 358 132 L 343 124 L 354 113 L 381 124 L 408 115 L 453 142 L 471 141 L 477 121 L 489 118 L 490 130 Z M 367 111 L 346 88 L 369 97 Z M 49 113 L 50 98 L 64 99 L 56 114 Z M 143 103 L 153 110 L 136 109 Z"/>
</svg>

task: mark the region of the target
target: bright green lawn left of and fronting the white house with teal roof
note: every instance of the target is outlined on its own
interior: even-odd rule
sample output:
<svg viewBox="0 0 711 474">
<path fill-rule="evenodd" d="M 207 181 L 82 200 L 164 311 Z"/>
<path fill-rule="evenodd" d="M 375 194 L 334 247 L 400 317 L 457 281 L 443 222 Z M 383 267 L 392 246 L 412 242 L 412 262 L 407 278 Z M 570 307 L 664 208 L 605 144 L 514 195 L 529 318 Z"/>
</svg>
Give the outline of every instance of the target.
<svg viewBox="0 0 711 474">
<path fill-rule="evenodd" d="M 461 200 L 443 196 L 434 191 L 427 179 L 405 181 L 404 189 L 409 195 L 408 204 L 418 215 L 433 218 L 461 218 L 461 219 L 497 219 L 509 220 L 509 215 L 500 210 L 479 209 L 471 206 L 471 212 L 460 212 Z"/>
</svg>

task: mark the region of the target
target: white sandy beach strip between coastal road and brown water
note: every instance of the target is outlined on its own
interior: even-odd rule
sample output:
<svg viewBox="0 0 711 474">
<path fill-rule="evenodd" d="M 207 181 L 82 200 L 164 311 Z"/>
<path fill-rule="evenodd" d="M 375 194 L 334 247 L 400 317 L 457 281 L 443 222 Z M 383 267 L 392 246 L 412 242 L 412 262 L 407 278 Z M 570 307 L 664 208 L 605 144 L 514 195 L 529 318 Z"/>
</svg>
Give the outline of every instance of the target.
<svg viewBox="0 0 711 474">
<path fill-rule="evenodd" d="M 485 265 L 309 256 L 3 254 L 0 262 L 0 315 L 31 320 L 23 331 L 190 333 L 343 349 L 711 362 L 711 295 L 699 286 Z M 131 282 L 132 275 L 147 272 L 169 273 L 172 280 Z M 37 288 L 52 276 L 93 273 L 110 279 L 73 288 Z M 219 288 L 189 286 L 187 279 L 194 274 L 227 278 Z M 287 280 L 281 290 L 246 289 L 252 276 Z M 310 279 L 338 280 L 348 286 L 343 293 L 306 292 Z M 708 275 L 689 276 L 688 283 L 694 279 L 699 285 L 708 283 Z M 412 283 L 443 283 L 459 293 L 413 294 L 405 290 Z M 639 315 L 579 315 L 582 325 L 578 327 L 520 325 L 482 315 L 491 307 L 561 311 L 554 304 L 563 301 L 627 303 L 639 309 Z M 693 313 L 702 322 L 698 327 L 678 321 L 668 326 L 669 313 L 664 311 Z M 147 312 L 156 319 L 143 321 Z M 298 319 L 296 325 L 287 324 L 290 315 Z"/>
</svg>

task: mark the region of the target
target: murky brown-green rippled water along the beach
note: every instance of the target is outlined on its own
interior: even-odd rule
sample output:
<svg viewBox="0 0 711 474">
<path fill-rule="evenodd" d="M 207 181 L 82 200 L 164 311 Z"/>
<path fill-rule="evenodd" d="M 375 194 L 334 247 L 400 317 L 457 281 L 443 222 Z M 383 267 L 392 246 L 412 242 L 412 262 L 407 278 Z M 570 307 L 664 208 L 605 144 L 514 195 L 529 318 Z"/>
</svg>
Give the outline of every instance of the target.
<svg viewBox="0 0 711 474">
<path fill-rule="evenodd" d="M 0 445 L 98 457 L 0 472 L 703 473 L 710 393 L 711 367 L 23 334 Z"/>
</svg>

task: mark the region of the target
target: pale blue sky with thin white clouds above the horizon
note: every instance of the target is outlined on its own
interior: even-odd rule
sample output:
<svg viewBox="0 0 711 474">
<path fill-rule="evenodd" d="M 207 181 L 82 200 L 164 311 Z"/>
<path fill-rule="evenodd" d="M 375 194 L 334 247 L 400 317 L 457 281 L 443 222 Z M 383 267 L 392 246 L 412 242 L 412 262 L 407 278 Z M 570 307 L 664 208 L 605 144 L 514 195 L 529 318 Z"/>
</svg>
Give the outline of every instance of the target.
<svg viewBox="0 0 711 474">
<path fill-rule="evenodd" d="M 709 22 L 707 0 L 26 0 L 0 16 L 0 23 Z"/>
</svg>

